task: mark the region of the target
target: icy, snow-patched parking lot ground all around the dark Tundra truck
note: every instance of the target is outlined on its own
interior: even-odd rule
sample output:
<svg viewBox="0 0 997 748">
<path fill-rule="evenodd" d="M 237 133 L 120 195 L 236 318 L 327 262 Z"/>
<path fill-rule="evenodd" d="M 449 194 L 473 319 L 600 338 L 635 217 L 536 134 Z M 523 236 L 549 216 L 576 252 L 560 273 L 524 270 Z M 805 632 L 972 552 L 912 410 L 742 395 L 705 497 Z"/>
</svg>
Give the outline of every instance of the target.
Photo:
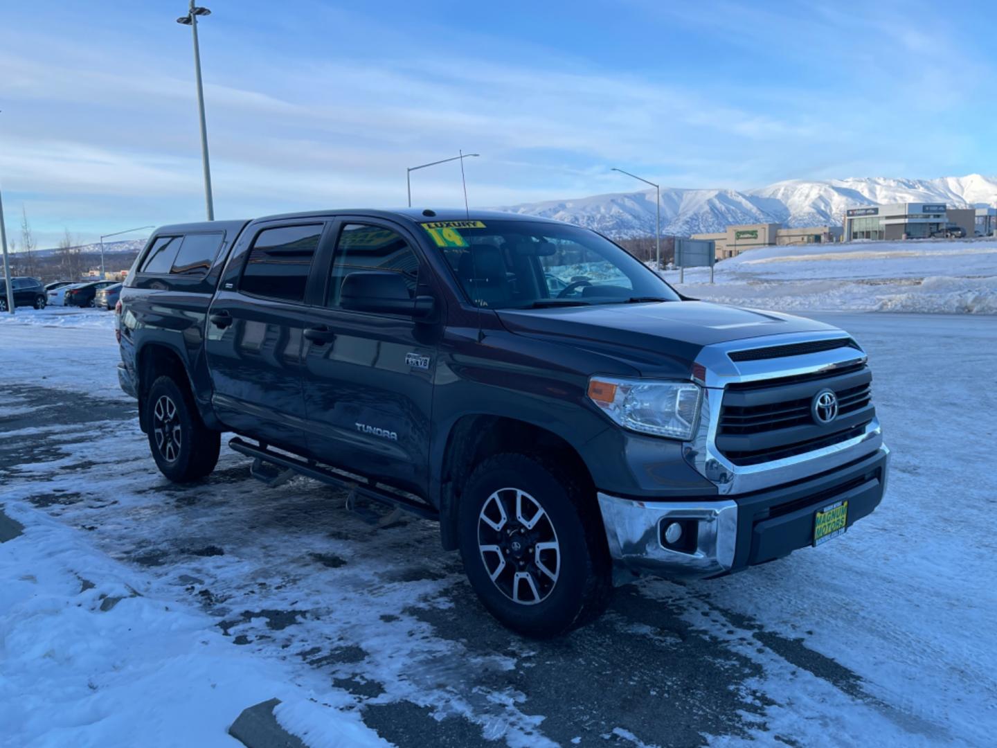
<svg viewBox="0 0 997 748">
<path fill-rule="evenodd" d="M 273 696 L 312 746 L 992 742 L 991 318 L 820 315 L 870 354 L 881 507 L 735 576 L 623 587 L 533 642 L 481 608 L 430 523 L 371 530 L 342 494 L 264 489 L 227 449 L 169 485 L 118 390 L 111 316 L 0 323 L 0 505 L 25 528 L 0 545 L 11 745 L 232 746 L 239 710 Z"/>
</svg>

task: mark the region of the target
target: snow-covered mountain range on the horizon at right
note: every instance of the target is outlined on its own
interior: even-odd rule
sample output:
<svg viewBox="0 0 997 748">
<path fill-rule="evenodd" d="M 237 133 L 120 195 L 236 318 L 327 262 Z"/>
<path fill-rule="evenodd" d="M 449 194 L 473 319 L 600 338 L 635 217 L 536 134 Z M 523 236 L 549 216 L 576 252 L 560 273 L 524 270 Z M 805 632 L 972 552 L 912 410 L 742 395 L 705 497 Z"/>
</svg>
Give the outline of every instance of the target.
<svg viewBox="0 0 997 748">
<path fill-rule="evenodd" d="M 974 174 L 937 180 L 789 180 L 742 191 L 665 187 L 661 190 L 661 232 L 688 236 L 723 231 L 731 223 L 840 225 L 848 207 L 890 202 L 994 205 L 997 177 Z M 622 238 L 654 233 L 654 189 L 527 202 L 500 209 L 565 220 Z"/>
</svg>

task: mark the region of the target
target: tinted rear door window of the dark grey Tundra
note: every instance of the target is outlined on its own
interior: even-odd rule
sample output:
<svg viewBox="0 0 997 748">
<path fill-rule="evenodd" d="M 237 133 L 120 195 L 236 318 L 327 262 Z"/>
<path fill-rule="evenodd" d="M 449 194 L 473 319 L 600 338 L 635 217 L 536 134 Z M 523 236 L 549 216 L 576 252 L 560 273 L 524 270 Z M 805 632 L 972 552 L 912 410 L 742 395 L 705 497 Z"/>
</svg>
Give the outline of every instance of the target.
<svg viewBox="0 0 997 748">
<path fill-rule="evenodd" d="M 239 290 L 254 296 L 304 301 L 322 228 L 323 224 L 316 223 L 260 231 L 249 250 Z"/>
</svg>

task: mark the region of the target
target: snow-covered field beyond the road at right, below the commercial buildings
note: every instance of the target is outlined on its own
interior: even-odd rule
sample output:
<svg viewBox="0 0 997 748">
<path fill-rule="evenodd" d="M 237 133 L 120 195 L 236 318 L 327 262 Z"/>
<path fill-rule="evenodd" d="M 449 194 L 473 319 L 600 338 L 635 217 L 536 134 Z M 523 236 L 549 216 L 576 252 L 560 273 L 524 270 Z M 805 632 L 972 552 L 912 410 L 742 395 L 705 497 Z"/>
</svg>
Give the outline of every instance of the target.
<svg viewBox="0 0 997 748">
<path fill-rule="evenodd" d="M 767 246 L 664 277 L 708 301 L 782 311 L 997 314 L 997 241 Z"/>
</svg>

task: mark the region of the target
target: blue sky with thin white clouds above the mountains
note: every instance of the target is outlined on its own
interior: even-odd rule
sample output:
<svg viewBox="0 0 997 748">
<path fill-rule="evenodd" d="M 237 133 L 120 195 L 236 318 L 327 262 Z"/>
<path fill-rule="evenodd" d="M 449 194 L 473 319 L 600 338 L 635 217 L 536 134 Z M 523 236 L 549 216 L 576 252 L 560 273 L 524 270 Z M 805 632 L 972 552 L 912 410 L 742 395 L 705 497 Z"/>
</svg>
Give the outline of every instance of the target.
<svg viewBox="0 0 997 748">
<path fill-rule="evenodd" d="M 217 217 L 997 174 L 989 2 L 205 0 Z M 6 3 L 0 185 L 42 245 L 203 216 L 182 0 Z M 456 164 L 413 175 L 459 204 Z"/>
</svg>

